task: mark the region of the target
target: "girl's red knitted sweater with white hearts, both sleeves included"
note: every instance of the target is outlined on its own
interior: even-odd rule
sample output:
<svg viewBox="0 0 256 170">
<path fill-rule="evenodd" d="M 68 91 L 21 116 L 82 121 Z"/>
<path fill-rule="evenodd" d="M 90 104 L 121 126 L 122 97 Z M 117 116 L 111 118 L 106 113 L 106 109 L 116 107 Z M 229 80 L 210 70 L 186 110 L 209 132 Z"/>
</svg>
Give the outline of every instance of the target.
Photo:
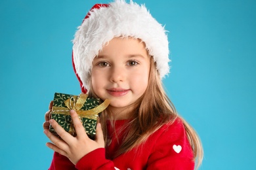
<svg viewBox="0 0 256 170">
<path fill-rule="evenodd" d="M 115 128 L 127 121 L 117 120 Z M 108 134 L 113 129 L 108 125 Z M 120 138 L 120 137 L 119 137 Z M 50 170 L 53 169 L 194 169 L 193 152 L 182 120 L 177 118 L 171 126 L 162 126 L 150 135 L 148 140 L 138 148 L 111 159 L 119 146 L 114 135 L 111 143 L 105 148 L 98 148 L 85 155 L 74 165 L 68 158 L 54 152 Z"/>
</svg>

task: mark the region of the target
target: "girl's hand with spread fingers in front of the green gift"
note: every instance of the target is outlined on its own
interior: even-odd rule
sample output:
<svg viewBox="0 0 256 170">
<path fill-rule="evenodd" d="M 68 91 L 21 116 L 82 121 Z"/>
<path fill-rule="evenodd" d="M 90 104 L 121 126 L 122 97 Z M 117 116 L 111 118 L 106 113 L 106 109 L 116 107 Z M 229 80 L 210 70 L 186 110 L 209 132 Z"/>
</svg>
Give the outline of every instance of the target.
<svg viewBox="0 0 256 170">
<path fill-rule="evenodd" d="M 80 122 L 80 119 L 77 116 L 75 110 L 70 110 L 70 114 L 74 123 L 75 132 L 77 133 L 76 137 L 70 135 L 66 132 L 58 123 L 51 119 L 49 123 L 53 126 L 54 130 L 61 137 L 54 136 L 49 129 L 45 129 L 44 133 L 49 137 L 52 143 L 47 143 L 46 145 L 53 149 L 55 152 L 66 156 L 74 165 L 79 161 L 83 156 L 89 152 L 96 150 L 97 148 L 104 148 L 104 137 L 100 124 L 96 126 L 96 138 L 95 141 L 89 139 L 87 136 L 83 125 Z"/>
</svg>

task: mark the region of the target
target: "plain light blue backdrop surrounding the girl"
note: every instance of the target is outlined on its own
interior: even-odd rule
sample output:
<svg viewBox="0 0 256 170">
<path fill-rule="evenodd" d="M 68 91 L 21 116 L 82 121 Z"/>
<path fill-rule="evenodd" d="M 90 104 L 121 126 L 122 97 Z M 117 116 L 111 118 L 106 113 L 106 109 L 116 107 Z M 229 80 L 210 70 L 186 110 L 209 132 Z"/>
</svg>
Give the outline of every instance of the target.
<svg viewBox="0 0 256 170">
<path fill-rule="evenodd" d="M 80 93 L 71 40 L 87 11 L 108 2 L 0 2 L 0 169 L 49 167 L 44 114 L 54 92 Z M 256 169 L 255 1 L 136 2 L 169 30 L 173 62 L 163 82 L 202 139 L 200 169 Z"/>
</svg>

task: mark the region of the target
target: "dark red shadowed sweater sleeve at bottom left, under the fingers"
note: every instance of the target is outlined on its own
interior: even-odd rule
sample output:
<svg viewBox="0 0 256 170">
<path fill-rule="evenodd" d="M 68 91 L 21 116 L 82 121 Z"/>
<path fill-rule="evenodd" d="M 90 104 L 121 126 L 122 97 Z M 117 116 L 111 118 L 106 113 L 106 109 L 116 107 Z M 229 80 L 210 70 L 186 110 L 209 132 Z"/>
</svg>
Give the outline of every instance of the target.
<svg viewBox="0 0 256 170">
<path fill-rule="evenodd" d="M 53 161 L 51 163 L 51 167 L 49 170 L 75 170 L 75 165 L 68 159 L 66 156 L 62 156 L 58 154 L 58 152 L 54 152 Z"/>
</svg>

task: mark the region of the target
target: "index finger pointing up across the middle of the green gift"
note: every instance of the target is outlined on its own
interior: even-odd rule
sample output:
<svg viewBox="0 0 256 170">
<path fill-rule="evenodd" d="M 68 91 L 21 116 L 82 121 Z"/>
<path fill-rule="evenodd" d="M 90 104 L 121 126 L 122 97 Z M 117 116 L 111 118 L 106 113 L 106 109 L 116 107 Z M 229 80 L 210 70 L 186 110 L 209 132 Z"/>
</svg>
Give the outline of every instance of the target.
<svg viewBox="0 0 256 170">
<path fill-rule="evenodd" d="M 87 136 L 85 133 L 85 128 L 83 127 L 83 124 L 81 123 L 80 118 L 78 117 L 77 112 L 75 110 L 70 110 L 70 115 L 75 127 L 75 132 L 77 134 L 77 137 L 85 137 Z"/>
</svg>

